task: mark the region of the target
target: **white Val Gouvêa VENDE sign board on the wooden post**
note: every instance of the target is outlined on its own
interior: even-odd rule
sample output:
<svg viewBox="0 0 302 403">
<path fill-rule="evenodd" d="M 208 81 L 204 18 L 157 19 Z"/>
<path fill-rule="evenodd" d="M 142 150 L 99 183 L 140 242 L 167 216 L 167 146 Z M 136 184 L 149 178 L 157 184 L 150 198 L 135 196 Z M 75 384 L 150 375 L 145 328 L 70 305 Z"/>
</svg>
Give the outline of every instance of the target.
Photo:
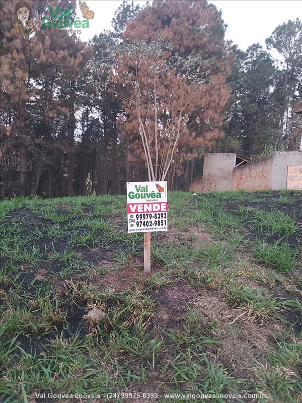
<svg viewBox="0 0 302 403">
<path fill-rule="evenodd" d="M 128 232 L 168 230 L 167 182 L 127 182 Z"/>
</svg>

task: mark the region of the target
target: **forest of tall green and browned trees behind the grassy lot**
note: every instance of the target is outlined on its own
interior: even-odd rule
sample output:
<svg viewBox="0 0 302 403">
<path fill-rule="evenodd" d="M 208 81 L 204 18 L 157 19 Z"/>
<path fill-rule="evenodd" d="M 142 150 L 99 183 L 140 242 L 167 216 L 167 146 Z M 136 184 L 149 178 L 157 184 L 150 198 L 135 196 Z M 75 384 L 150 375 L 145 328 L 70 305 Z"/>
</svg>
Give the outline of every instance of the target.
<svg viewBox="0 0 302 403">
<path fill-rule="evenodd" d="M 30 36 L 15 4 L 1 3 L 1 198 L 123 193 L 148 176 L 145 145 L 155 179 L 183 190 L 205 153 L 299 149 L 299 19 L 242 51 L 206 1 L 124 2 L 89 42 L 41 26 L 74 1 L 28 1 Z"/>
</svg>

